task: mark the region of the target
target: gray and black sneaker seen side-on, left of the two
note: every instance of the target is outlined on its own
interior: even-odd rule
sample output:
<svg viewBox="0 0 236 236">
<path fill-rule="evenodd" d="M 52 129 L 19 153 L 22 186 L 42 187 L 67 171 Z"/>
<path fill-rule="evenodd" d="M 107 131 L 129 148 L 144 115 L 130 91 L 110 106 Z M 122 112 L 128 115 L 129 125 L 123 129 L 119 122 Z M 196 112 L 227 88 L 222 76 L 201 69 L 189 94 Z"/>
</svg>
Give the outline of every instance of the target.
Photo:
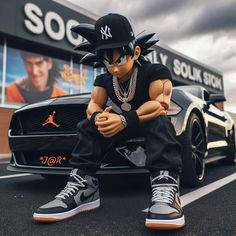
<svg viewBox="0 0 236 236">
<path fill-rule="evenodd" d="M 53 201 L 39 207 L 33 215 L 33 220 L 60 221 L 99 206 L 98 179 L 89 175 L 79 175 L 78 169 L 73 169 L 66 187 Z"/>
</svg>

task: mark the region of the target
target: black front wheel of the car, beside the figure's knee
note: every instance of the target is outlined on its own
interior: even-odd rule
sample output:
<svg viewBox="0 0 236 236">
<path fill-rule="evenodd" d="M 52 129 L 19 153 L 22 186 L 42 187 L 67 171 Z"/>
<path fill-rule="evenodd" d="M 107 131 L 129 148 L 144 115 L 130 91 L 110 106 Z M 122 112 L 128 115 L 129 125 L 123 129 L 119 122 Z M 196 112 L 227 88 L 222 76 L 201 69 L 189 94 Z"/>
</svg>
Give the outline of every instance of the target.
<svg viewBox="0 0 236 236">
<path fill-rule="evenodd" d="M 204 180 L 206 144 L 200 119 L 194 113 L 188 119 L 181 144 L 183 148 L 181 182 L 184 186 L 198 186 Z"/>
</svg>

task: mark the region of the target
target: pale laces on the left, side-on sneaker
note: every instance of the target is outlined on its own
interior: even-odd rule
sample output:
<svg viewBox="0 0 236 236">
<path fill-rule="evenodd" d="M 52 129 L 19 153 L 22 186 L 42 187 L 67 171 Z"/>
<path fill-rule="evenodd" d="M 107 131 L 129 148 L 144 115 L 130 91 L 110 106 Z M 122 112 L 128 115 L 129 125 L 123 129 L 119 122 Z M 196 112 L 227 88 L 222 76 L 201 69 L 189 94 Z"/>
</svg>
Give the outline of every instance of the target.
<svg viewBox="0 0 236 236">
<path fill-rule="evenodd" d="M 80 175 L 77 175 L 76 171 L 72 171 L 70 177 L 73 177 L 77 183 L 69 181 L 66 187 L 56 196 L 56 198 L 65 199 L 65 197 L 69 197 L 78 191 L 79 187 L 85 187 L 84 183 L 86 183 L 87 180 L 83 179 Z"/>
</svg>

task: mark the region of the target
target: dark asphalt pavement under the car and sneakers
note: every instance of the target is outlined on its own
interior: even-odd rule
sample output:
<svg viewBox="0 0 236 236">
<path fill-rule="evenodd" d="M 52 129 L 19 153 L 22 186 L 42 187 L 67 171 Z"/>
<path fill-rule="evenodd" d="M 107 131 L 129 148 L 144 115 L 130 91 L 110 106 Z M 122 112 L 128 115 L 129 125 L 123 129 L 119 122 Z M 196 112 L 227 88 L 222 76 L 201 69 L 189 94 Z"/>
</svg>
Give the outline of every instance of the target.
<svg viewBox="0 0 236 236">
<path fill-rule="evenodd" d="M 145 209 L 151 197 L 148 175 L 99 176 L 101 207 L 80 213 L 66 221 L 36 223 L 34 210 L 60 192 L 65 182 L 49 182 L 39 175 L 18 175 L 6 170 L 0 160 L 1 236 L 93 236 L 93 235 L 186 235 L 236 236 L 235 166 L 217 162 L 206 167 L 206 181 L 199 188 L 181 188 L 186 226 L 177 231 L 156 231 L 144 227 Z M 226 179 L 230 181 L 226 184 Z M 219 185 L 219 181 L 223 184 Z M 204 186 L 207 186 L 205 189 Z M 206 189 L 216 186 L 206 194 Z M 217 187 L 218 186 L 218 187 Z M 203 196 L 196 198 L 197 194 Z"/>
</svg>

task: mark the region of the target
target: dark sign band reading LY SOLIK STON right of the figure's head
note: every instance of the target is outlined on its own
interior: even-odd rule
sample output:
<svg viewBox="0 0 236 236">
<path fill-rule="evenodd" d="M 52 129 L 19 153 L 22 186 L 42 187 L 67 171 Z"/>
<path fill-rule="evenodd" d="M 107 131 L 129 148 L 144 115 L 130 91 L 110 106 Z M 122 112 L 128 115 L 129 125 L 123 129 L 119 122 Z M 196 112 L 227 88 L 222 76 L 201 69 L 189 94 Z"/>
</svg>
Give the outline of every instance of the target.
<svg viewBox="0 0 236 236">
<path fill-rule="evenodd" d="M 215 91 L 223 92 L 222 75 L 201 64 L 194 63 L 184 56 L 178 56 L 177 53 L 156 46 L 156 50 L 150 54 L 149 59 L 154 63 L 160 62 L 166 65 L 171 70 L 174 80 L 182 83 L 189 81 L 189 84 L 200 84 Z"/>
</svg>

